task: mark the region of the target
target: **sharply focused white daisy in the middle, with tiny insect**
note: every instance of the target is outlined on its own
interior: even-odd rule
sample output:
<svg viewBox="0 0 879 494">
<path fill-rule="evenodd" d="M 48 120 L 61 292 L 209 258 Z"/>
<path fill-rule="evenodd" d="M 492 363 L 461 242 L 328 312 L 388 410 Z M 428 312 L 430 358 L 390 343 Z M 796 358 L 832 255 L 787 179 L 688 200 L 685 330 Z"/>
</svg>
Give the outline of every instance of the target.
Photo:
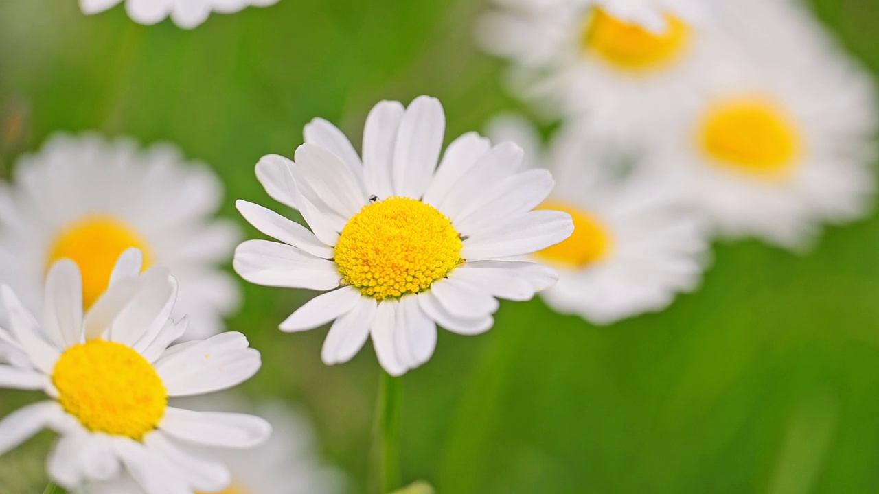
<svg viewBox="0 0 879 494">
<path fill-rule="evenodd" d="M 547 267 L 508 260 L 570 236 L 568 214 L 532 211 L 552 189 L 549 172 L 518 173 L 518 146 L 491 147 L 476 133 L 449 144 L 438 167 L 445 127 L 434 98 L 405 109 L 382 101 L 367 117 L 362 161 L 321 119 L 305 127 L 295 163 L 263 157 L 266 192 L 311 231 L 238 201 L 248 222 L 282 243 L 242 243 L 236 272 L 260 285 L 331 290 L 280 324 L 303 331 L 335 320 L 325 363 L 350 360 L 371 336 L 381 366 L 403 374 L 430 359 L 437 324 L 487 331 L 495 297 L 528 300 L 556 281 Z"/>
</svg>

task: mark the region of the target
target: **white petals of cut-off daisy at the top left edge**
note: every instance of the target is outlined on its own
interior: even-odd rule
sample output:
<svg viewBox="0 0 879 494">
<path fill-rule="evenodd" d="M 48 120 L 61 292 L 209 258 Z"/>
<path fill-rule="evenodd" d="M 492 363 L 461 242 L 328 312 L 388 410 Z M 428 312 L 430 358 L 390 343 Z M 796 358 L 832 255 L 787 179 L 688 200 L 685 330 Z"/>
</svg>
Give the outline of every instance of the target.
<svg viewBox="0 0 879 494">
<path fill-rule="evenodd" d="M 79 0 L 79 6 L 86 14 L 96 14 L 123 2 L 128 17 L 139 24 L 152 25 L 170 17 L 174 24 L 192 29 L 205 22 L 211 12 L 230 14 L 251 5 L 267 7 L 278 0 Z"/>
</svg>

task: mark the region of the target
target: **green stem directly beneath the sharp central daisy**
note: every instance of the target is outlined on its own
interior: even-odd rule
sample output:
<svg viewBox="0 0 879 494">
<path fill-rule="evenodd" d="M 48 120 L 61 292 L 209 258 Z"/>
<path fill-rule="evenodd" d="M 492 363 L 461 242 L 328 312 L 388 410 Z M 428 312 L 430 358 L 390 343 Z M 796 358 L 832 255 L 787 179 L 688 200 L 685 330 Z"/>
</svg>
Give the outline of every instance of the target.
<svg viewBox="0 0 879 494">
<path fill-rule="evenodd" d="M 375 410 L 376 494 L 387 494 L 400 485 L 400 406 L 402 379 L 381 371 Z"/>
</svg>

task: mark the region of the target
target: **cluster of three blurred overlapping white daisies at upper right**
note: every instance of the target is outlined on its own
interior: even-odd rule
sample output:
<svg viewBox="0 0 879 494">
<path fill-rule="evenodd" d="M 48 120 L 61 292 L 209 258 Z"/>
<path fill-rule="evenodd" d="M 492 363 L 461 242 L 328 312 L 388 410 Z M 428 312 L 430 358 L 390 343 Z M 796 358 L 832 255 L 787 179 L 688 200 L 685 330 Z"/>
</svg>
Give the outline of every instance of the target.
<svg viewBox="0 0 879 494">
<path fill-rule="evenodd" d="M 476 39 L 508 60 L 519 142 L 558 182 L 573 236 L 536 255 L 548 304 L 592 323 L 693 290 L 715 237 L 791 251 L 867 213 L 875 94 L 797 0 L 494 0 Z"/>
</svg>

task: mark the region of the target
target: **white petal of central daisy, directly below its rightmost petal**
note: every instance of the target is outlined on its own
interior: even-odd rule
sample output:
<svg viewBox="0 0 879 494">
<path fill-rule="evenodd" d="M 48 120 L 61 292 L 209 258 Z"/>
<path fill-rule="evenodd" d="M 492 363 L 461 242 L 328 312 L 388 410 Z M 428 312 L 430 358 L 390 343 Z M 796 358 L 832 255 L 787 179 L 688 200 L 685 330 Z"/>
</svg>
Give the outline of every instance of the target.
<svg viewBox="0 0 879 494">
<path fill-rule="evenodd" d="M 555 270 L 545 265 L 512 261 L 476 261 L 454 270 L 452 277 L 496 297 L 527 301 L 534 293 L 552 287 Z"/>
</svg>

